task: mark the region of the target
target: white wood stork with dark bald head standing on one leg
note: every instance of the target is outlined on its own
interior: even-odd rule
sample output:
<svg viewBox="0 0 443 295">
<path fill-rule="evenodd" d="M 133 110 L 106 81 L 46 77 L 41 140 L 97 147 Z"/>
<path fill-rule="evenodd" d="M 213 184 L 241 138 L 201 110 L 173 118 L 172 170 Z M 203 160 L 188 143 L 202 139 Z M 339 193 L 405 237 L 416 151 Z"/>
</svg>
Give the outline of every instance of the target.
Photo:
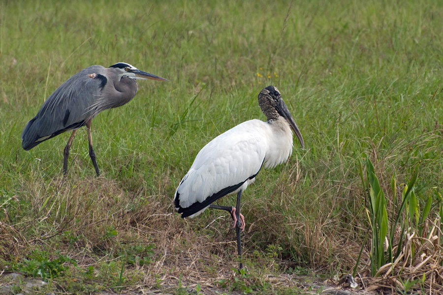
<svg viewBox="0 0 443 295">
<path fill-rule="evenodd" d="M 240 214 L 242 191 L 254 181 L 261 167 L 275 167 L 292 153 L 292 131 L 304 148 L 303 137 L 280 91 L 268 86 L 258 94 L 258 104 L 267 121 L 253 119 L 219 135 L 195 157 L 189 172 L 175 192 L 174 205 L 182 217 L 194 217 L 206 208 L 230 212 L 237 235 L 240 268 L 240 230 L 245 219 Z M 236 207 L 211 205 L 221 197 L 237 192 Z"/>
</svg>

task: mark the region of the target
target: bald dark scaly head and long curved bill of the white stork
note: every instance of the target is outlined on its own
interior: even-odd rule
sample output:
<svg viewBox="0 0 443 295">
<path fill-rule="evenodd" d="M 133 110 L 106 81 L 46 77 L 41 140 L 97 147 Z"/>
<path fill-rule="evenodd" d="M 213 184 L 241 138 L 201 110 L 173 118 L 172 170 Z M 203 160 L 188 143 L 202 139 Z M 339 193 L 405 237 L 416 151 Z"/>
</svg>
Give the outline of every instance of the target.
<svg viewBox="0 0 443 295">
<path fill-rule="evenodd" d="M 266 116 L 266 118 L 268 118 L 268 122 L 270 123 L 280 117 L 285 118 L 289 124 L 289 127 L 297 136 L 301 147 L 305 147 L 300 130 L 298 129 L 297 124 L 295 124 L 294 118 L 292 118 L 291 113 L 287 109 L 287 106 L 283 101 L 282 94 L 280 94 L 279 89 L 275 88 L 272 85 L 261 89 L 260 93 L 258 93 L 258 105 L 260 106 L 261 111 Z"/>
</svg>

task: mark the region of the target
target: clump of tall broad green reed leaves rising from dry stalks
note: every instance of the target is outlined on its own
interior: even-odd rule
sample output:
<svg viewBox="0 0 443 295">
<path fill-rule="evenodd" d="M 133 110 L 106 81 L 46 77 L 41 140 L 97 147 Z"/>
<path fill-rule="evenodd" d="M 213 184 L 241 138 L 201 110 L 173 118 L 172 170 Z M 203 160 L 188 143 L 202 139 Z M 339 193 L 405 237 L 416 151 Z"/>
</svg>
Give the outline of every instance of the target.
<svg viewBox="0 0 443 295">
<path fill-rule="evenodd" d="M 427 236 L 427 227 L 425 221 L 428 218 L 432 209 L 432 194 L 429 193 L 426 200 L 423 200 L 424 206 L 420 210 L 420 202 L 415 194 L 414 187 L 416 184 L 419 164 L 416 165 L 411 179 L 407 184 L 404 184 L 401 193 L 401 203 L 397 210 L 395 205 L 400 202 L 397 201 L 397 178 L 394 175 L 391 178 L 392 200 L 394 206 L 392 211 L 387 211 L 386 196 L 380 186 L 378 177 L 373 164 L 369 158 L 366 159 L 366 180 L 363 178 L 362 165 L 360 163 L 360 176 L 363 185 L 369 190 L 369 208 L 366 212 L 370 221 L 372 231 L 372 241 L 370 248 L 370 273 L 371 276 L 377 276 L 382 266 L 394 261 L 400 256 L 402 245 L 405 242 L 405 236 L 416 234 L 416 236 Z M 440 205 L 440 214 L 442 206 Z M 390 222 L 388 222 L 388 215 L 390 215 Z M 390 226 L 389 226 L 390 223 Z M 411 261 L 415 255 L 420 253 L 415 252 L 415 244 L 411 245 Z M 364 245 L 362 246 L 363 249 Z M 361 252 L 360 252 L 361 254 Z M 360 259 L 360 256 L 358 260 Z M 357 262 L 358 265 L 358 262 Z"/>
</svg>

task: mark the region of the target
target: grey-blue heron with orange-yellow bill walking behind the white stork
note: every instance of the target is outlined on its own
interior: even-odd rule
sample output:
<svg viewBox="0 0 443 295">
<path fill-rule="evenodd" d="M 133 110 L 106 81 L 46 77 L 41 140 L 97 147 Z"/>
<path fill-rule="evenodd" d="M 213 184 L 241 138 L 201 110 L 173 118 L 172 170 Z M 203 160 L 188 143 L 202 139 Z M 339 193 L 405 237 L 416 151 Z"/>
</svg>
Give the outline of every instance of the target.
<svg viewBox="0 0 443 295">
<path fill-rule="evenodd" d="M 98 176 L 100 171 L 92 146 L 92 119 L 101 111 L 128 103 L 137 93 L 136 79 L 168 81 L 125 62 L 108 68 L 92 65 L 81 70 L 57 88 L 37 115 L 26 124 L 22 133 L 22 147 L 29 150 L 60 133 L 73 130 L 63 152 L 63 174 L 66 174 L 72 140 L 77 129 L 86 125 L 89 155 Z"/>
</svg>

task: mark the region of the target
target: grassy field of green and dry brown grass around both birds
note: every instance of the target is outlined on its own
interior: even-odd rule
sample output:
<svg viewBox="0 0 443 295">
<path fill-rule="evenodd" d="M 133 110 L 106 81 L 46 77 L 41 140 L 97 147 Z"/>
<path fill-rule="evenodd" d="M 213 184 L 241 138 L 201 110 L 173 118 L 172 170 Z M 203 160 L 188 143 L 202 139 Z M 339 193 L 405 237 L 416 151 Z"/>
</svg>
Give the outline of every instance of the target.
<svg viewBox="0 0 443 295">
<path fill-rule="evenodd" d="M 291 281 L 278 287 L 279 276 L 332 276 L 355 265 L 370 228 L 358 159 L 370 157 L 385 191 L 394 173 L 400 185 L 421 162 L 419 204 L 442 187 L 440 1 L 1 1 L 0 8 L 0 271 L 32 272 L 33 263 L 60 256 L 75 262 L 59 259 L 66 269 L 51 282 L 70 293 L 197 284 L 208 294 L 211 286 L 290 293 Z M 95 118 L 100 177 L 85 130 L 67 177 L 69 134 L 21 148 L 26 122 L 66 79 L 119 61 L 170 82 L 140 81 L 133 101 Z M 172 199 L 207 142 L 245 120 L 265 120 L 257 95 L 268 85 L 282 92 L 306 148 L 294 141 L 289 161 L 262 170 L 245 191 L 251 278 L 235 285 L 229 215 L 207 210 L 183 220 Z"/>
</svg>

